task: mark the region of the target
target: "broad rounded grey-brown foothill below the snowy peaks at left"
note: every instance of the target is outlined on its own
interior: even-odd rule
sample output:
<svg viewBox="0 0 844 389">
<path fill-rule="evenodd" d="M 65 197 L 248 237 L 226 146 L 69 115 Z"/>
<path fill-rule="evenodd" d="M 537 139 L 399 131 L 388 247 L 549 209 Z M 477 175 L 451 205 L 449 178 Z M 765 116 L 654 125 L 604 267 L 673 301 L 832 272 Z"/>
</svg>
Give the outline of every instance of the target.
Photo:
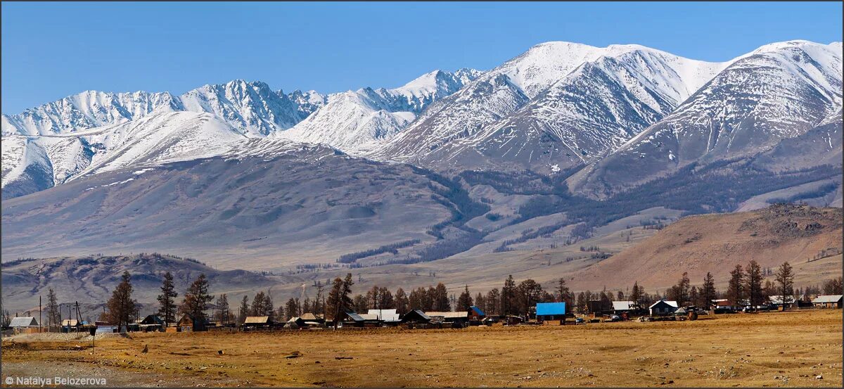
<svg viewBox="0 0 844 389">
<path fill-rule="evenodd" d="M 4 199 L 4 260 L 169 251 L 229 268 L 334 263 L 353 251 L 436 240 L 426 233 L 436 225 L 449 235 L 463 207 L 448 198 L 459 191 L 430 172 L 325 146 L 260 138 L 219 156 L 157 159 L 178 147 L 149 145 L 155 157 L 104 159 L 90 167 L 103 170 L 96 174 Z"/>
</svg>

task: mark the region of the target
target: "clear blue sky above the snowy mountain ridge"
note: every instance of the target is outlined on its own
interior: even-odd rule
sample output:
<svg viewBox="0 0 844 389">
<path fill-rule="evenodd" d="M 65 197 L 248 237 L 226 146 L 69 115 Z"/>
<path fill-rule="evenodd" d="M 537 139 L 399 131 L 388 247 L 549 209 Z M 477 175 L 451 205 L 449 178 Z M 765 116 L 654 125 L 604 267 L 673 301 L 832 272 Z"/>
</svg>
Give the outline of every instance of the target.
<svg viewBox="0 0 844 389">
<path fill-rule="evenodd" d="M 841 41 L 841 3 L 3 3 L 3 113 L 86 89 L 181 94 L 396 87 L 488 69 L 544 41 L 637 43 L 723 61 Z"/>
</svg>

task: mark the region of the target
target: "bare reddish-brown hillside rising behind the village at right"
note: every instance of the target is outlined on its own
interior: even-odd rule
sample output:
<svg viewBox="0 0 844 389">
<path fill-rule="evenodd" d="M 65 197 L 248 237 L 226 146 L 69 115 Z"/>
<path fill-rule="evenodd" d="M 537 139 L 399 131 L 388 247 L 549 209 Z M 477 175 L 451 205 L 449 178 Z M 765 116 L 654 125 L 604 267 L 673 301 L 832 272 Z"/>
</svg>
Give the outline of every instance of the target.
<svg viewBox="0 0 844 389">
<path fill-rule="evenodd" d="M 798 284 L 841 276 L 841 208 L 774 205 L 753 212 L 690 216 L 614 257 L 584 269 L 577 286 L 601 288 L 638 281 L 664 289 L 684 272 L 700 284 L 711 272 L 728 281 L 736 264 L 790 262 Z"/>
</svg>

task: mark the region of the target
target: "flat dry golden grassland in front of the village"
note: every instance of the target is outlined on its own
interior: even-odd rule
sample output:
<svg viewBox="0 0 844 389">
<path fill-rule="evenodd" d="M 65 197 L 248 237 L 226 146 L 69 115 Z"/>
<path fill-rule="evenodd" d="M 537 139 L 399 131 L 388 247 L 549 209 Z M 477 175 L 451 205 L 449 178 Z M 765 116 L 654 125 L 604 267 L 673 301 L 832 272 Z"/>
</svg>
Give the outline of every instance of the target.
<svg viewBox="0 0 844 389">
<path fill-rule="evenodd" d="M 842 362 L 841 310 L 578 326 L 138 333 L 97 340 L 93 354 L 88 346 L 3 340 L 3 375 L 96 373 L 115 386 L 840 387 Z"/>
</svg>

